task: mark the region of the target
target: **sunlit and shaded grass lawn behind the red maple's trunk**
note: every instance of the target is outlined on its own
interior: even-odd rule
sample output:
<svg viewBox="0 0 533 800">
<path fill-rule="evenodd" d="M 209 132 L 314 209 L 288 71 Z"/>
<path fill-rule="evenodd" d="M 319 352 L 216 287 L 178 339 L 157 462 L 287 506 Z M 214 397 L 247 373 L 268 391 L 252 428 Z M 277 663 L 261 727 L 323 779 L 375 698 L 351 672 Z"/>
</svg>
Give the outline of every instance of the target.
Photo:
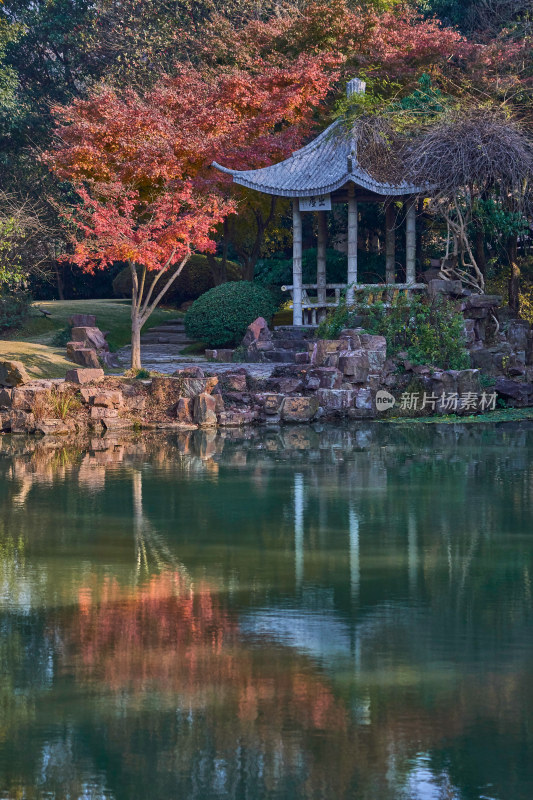
<svg viewBox="0 0 533 800">
<path fill-rule="evenodd" d="M 49 311 L 51 317 L 43 317 L 37 308 Z M 63 378 L 67 369 L 75 365 L 66 360 L 65 346 L 55 345 L 54 338 L 65 330 L 73 314 L 95 314 L 98 327 L 108 331 L 107 341 L 112 351 L 129 344 L 129 300 L 43 300 L 34 303 L 21 328 L 0 338 L 0 359 L 22 361 L 36 378 Z M 177 316 L 179 312 L 175 309 L 158 308 L 144 330 Z"/>
</svg>

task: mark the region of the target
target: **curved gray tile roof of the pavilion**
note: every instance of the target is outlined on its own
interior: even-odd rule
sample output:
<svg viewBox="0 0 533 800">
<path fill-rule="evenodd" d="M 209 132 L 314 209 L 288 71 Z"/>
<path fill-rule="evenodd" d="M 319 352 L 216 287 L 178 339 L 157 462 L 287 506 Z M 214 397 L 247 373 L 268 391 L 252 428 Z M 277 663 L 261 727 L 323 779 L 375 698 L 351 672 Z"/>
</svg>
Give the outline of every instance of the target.
<svg viewBox="0 0 533 800">
<path fill-rule="evenodd" d="M 310 197 L 328 194 L 350 181 L 356 186 L 384 197 L 419 194 L 428 187 L 401 183 L 384 183 L 371 177 L 358 163 L 356 141 L 337 120 L 301 150 L 285 161 L 262 169 L 228 169 L 213 162 L 235 183 L 265 194 L 280 197 Z"/>
</svg>

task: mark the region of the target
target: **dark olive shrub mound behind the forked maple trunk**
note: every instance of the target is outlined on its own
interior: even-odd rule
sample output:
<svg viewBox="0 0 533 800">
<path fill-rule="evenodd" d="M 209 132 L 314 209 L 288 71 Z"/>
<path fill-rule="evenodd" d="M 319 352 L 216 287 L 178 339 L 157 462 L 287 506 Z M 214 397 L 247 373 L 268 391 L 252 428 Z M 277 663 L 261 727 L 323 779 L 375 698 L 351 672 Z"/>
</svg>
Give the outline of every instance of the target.
<svg viewBox="0 0 533 800">
<path fill-rule="evenodd" d="M 220 259 L 216 259 L 220 263 Z M 176 265 L 177 269 L 178 265 Z M 231 281 L 238 281 L 241 276 L 241 268 L 234 261 L 228 261 L 226 264 L 228 279 Z M 148 290 L 150 284 L 157 273 L 148 273 L 146 280 L 146 289 Z M 212 289 L 214 286 L 213 274 L 209 267 L 207 256 L 194 255 L 191 256 L 183 272 L 176 278 L 167 294 L 165 295 L 164 302 L 175 303 L 181 305 L 187 300 L 196 300 L 201 294 Z M 131 297 L 131 272 L 129 267 L 121 270 L 115 280 L 113 281 L 113 292 L 117 297 Z"/>
</svg>

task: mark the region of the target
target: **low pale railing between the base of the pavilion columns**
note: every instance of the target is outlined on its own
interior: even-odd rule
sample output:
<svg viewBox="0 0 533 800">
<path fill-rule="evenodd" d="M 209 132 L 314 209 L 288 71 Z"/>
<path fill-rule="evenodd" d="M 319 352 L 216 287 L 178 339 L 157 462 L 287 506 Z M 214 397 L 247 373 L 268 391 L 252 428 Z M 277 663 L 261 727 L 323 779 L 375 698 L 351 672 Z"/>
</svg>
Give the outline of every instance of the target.
<svg viewBox="0 0 533 800">
<path fill-rule="evenodd" d="M 341 294 L 346 292 L 347 283 L 327 283 L 326 301 L 319 302 L 318 294 L 310 296 L 309 292 L 318 292 L 318 284 L 304 283 L 302 285 L 302 323 L 304 325 L 317 325 L 327 314 L 328 308 L 336 308 L 341 300 Z M 385 300 L 392 302 L 400 293 L 408 294 L 411 291 L 425 291 L 425 283 L 357 283 L 353 287 L 354 295 L 366 295 L 368 304 Z M 282 292 L 290 292 L 293 298 L 294 286 L 282 286 Z M 329 295 L 329 296 L 328 296 Z"/>
</svg>

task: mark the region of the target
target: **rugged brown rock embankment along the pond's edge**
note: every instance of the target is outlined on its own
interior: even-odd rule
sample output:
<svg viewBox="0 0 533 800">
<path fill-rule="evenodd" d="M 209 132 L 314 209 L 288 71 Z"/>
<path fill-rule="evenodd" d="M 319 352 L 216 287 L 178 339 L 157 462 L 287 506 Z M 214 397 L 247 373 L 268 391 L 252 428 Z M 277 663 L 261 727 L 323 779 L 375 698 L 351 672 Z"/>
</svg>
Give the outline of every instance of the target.
<svg viewBox="0 0 533 800">
<path fill-rule="evenodd" d="M 247 333 L 248 346 L 265 339 L 264 321 Z M 478 369 L 435 370 L 387 358 L 386 341 L 359 329 L 335 340 L 308 340 L 291 364 L 268 377 L 245 366 L 224 374 L 191 367 L 150 380 L 105 376 L 99 368 L 69 370 L 65 380 L 32 380 L 22 364 L 0 362 L 0 430 L 4 433 L 68 434 L 127 429 L 175 429 L 279 425 L 317 419 L 374 419 L 396 413 L 400 397 L 417 395 L 424 413 L 472 413 L 486 396 Z M 518 388 L 516 388 L 518 386 Z M 500 378 L 495 391 L 510 405 L 532 405 L 533 385 Z M 398 400 L 376 403 L 378 393 Z M 507 392 L 507 394 L 505 394 Z M 450 407 L 450 396 L 456 397 Z M 469 402 L 461 404 L 461 398 Z M 410 415 L 416 406 L 406 409 Z"/>
</svg>

